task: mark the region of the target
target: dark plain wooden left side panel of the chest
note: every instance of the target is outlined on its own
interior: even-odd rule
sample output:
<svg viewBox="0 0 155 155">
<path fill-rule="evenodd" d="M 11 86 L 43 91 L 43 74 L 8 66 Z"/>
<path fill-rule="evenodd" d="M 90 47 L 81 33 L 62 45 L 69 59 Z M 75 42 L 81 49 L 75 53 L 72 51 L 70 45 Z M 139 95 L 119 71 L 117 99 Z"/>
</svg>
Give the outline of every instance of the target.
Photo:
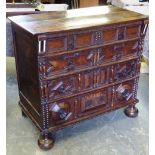
<svg viewBox="0 0 155 155">
<path fill-rule="evenodd" d="M 38 81 L 37 52 L 34 38 L 13 25 L 15 37 L 15 58 L 20 96 L 20 106 L 31 119 L 41 125 L 41 105 Z M 22 39 L 21 39 L 22 38 Z"/>
</svg>

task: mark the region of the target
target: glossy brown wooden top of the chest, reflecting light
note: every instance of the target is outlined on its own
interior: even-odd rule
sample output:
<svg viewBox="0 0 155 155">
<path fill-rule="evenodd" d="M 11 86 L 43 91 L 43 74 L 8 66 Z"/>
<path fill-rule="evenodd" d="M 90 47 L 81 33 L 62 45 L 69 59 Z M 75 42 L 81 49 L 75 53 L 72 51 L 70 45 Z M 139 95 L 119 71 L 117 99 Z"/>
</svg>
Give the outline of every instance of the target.
<svg viewBox="0 0 155 155">
<path fill-rule="evenodd" d="M 9 19 L 32 35 L 75 30 L 101 25 L 147 19 L 139 13 L 114 6 L 80 8 L 64 12 L 48 12 Z"/>
</svg>

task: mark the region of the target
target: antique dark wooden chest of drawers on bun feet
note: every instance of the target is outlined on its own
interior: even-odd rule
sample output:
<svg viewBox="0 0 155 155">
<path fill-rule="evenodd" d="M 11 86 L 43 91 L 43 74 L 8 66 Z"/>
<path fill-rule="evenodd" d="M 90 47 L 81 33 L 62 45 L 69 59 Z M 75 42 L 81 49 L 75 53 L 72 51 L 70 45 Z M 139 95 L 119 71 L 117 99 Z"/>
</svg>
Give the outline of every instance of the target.
<svg viewBox="0 0 155 155">
<path fill-rule="evenodd" d="M 148 17 L 101 6 L 9 17 L 23 115 L 38 127 L 40 148 L 51 132 L 126 107 L 135 117 Z"/>
</svg>

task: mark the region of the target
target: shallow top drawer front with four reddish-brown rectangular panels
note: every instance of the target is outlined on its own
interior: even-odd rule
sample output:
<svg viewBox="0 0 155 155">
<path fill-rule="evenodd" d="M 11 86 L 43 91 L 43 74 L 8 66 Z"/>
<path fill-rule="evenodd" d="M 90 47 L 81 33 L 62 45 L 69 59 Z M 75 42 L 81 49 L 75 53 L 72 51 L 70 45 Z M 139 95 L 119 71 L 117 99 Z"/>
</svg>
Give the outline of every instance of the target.
<svg viewBox="0 0 155 155">
<path fill-rule="evenodd" d="M 140 36 L 141 22 L 100 27 L 39 36 L 39 50 L 45 53 L 56 53 L 78 50 L 95 45 L 105 45 L 119 40 L 127 40 Z"/>
</svg>

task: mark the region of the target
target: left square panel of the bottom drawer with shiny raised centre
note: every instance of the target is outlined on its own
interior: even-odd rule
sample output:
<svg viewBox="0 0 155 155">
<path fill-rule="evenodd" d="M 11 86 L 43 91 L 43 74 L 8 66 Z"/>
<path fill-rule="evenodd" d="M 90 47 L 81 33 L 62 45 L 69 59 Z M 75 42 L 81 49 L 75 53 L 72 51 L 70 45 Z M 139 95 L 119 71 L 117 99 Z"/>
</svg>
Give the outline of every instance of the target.
<svg viewBox="0 0 155 155">
<path fill-rule="evenodd" d="M 69 122 L 75 117 L 76 100 L 66 99 L 49 104 L 49 124 L 63 124 Z"/>
</svg>

